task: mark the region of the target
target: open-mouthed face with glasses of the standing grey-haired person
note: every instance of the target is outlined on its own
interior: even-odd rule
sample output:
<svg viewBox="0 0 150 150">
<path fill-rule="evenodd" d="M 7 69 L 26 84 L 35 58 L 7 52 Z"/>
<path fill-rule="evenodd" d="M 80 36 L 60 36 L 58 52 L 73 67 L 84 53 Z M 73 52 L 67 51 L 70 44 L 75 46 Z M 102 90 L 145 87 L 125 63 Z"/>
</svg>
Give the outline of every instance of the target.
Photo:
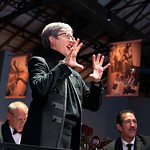
<svg viewBox="0 0 150 150">
<path fill-rule="evenodd" d="M 73 46 L 73 35 L 71 31 L 58 32 L 57 38 L 49 37 L 51 48 L 57 50 L 62 55 L 67 56 Z"/>
</svg>

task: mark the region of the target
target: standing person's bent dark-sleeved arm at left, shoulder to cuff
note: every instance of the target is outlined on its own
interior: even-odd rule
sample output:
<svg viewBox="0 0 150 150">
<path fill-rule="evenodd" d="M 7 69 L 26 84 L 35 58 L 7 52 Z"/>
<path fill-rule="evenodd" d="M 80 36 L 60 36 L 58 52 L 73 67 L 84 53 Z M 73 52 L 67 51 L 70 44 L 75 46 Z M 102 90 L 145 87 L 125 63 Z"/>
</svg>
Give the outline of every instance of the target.
<svg viewBox="0 0 150 150">
<path fill-rule="evenodd" d="M 28 62 L 29 82 L 34 93 L 47 95 L 60 82 L 67 78 L 71 71 L 63 63 L 57 64 L 50 70 L 46 61 L 41 57 L 32 57 Z"/>
</svg>

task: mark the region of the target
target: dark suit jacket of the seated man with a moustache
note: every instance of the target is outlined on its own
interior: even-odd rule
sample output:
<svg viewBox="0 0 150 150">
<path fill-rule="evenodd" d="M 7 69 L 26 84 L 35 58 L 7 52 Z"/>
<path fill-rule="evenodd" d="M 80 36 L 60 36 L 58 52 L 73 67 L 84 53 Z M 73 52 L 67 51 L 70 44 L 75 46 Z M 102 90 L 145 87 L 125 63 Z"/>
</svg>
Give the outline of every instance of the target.
<svg viewBox="0 0 150 150">
<path fill-rule="evenodd" d="M 122 150 L 121 137 L 106 145 L 104 150 Z M 134 150 L 150 150 L 150 136 L 136 135 Z"/>
</svg>

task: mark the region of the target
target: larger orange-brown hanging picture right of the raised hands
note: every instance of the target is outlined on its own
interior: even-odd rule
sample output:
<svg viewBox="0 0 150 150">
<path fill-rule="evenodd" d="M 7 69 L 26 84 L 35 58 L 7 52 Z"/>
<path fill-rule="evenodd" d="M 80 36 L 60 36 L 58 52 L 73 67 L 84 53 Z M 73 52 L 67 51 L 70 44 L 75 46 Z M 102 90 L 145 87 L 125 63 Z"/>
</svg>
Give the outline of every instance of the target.
<svg viewBox="0 0 150 150">
<path fill-rule="evenodd" d="M 106 96 L 138 96 L 141 40 L 111 43 Z"/>
</svg>

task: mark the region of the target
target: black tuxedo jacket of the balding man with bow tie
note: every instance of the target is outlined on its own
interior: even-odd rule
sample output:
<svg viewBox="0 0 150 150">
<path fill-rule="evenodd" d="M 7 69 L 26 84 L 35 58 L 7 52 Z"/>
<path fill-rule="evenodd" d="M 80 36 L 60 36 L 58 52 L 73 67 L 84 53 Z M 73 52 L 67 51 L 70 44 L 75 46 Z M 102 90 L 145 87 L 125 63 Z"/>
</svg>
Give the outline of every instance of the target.
<svg viewBox="0 0 150 150">
<path fill-rule="evenodd" d="M 8 121 L 6 121 L 3 124 L 0 124 L 0 144 L 2 142 L 15 143 L 15 141 L 11 135 Z"/>
</svg>

